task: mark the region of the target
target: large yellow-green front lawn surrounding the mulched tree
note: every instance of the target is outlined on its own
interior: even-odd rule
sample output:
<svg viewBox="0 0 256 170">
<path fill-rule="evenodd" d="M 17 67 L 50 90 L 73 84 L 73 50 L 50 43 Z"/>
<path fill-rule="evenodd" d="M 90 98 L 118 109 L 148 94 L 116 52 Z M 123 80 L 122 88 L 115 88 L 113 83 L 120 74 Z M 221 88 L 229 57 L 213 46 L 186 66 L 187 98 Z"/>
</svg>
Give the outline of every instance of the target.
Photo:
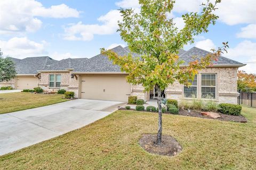
<svg viewBox="0 0 256 170">
<path fill-rule="evenodd" d="M 256 169 L 256 113 L 249 123 L 163 115 L 163 134 L 183 150 L 174 157 L 138 145 L 157 131 L 157 114 L 117 111 L 84 128 L 0 157 L 0 169 Z"/>
</svg>

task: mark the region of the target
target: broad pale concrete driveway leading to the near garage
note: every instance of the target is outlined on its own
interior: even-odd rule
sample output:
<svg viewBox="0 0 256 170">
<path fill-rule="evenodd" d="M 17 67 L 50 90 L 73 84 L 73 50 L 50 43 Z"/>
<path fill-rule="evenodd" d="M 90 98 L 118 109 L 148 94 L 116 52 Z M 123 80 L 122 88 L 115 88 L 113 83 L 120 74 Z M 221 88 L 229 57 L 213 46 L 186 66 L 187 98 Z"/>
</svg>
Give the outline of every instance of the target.
<svg viewBox="0 0 256 170">
<path fill-rule="evenodd" d="M 0 115 L 0 155 L 81 128 L 114 112 L 122 101 L 77 99 Z"/>
</svg>

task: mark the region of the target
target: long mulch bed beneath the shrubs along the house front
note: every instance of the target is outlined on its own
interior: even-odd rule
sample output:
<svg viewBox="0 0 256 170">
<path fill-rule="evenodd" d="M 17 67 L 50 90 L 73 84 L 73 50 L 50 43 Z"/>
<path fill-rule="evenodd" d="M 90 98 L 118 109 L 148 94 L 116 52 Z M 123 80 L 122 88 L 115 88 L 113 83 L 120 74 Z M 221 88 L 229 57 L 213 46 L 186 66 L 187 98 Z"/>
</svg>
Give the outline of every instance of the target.
<svg viewBox="0 0 256 170">
<path fill-rule="evenodd" d="M 133 109 L 133 108 L 127 110 L 126 108 L 123 108 L 123 107 L 121 107 L 119 110 L 135 111 L 135 109 Z M 138 111 L 138 112 L 147 112 L 147 111 Z M 187 110 L 180 109 L 178 115 L 209 118 L 209 119 L 220 120 L 220 121 L 231 121 L 231 122 L 247 123 L 247 119 L 242 115 L 234 116 L 234 115 L 226 115 L 226 114 L 223 114 L 223 113 L 218 113 L 220 115 L 219 118 L 212 118 L 212 117 L 202 115 L 201 112 L 202 111 L 190 111 L 190 112 L 188 112 Z M 153 112 L 153 113 L 157 113 L 157 112 Z M 170 113 L 163 113 L 163 114 L 170 114 Z"/>
</svg>

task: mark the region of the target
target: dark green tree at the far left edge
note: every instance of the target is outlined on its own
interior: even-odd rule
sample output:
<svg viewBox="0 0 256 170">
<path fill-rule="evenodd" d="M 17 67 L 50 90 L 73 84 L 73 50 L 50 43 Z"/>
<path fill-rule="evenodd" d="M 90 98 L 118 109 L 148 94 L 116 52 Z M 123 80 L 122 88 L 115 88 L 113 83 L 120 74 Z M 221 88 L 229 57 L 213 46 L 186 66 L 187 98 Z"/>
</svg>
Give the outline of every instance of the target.
<svg viewBox="0 0 256 170">
<path fill-rule="evenodd" d="M 0 49 L 0 82 L 9 81 L 15 77 L 15 64 L 10 58 L 3 57 Z"/>
</svg>

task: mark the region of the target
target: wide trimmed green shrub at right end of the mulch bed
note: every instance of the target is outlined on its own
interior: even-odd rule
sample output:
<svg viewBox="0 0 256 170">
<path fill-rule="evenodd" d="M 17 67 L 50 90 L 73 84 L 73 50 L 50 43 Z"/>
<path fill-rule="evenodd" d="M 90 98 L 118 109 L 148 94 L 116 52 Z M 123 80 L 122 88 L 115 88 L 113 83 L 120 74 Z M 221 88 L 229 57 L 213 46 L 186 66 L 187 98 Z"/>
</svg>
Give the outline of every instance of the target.
<svg viewBox="0 0 256 170">
<path fill-rule="evenodd" d="M 224 114 L 228 115 L 240 115 L 242 110 L 242 106 L 228 104 L 228 103 L 221 103 L 219 104 L 219 111 Z"/>
</svg>

